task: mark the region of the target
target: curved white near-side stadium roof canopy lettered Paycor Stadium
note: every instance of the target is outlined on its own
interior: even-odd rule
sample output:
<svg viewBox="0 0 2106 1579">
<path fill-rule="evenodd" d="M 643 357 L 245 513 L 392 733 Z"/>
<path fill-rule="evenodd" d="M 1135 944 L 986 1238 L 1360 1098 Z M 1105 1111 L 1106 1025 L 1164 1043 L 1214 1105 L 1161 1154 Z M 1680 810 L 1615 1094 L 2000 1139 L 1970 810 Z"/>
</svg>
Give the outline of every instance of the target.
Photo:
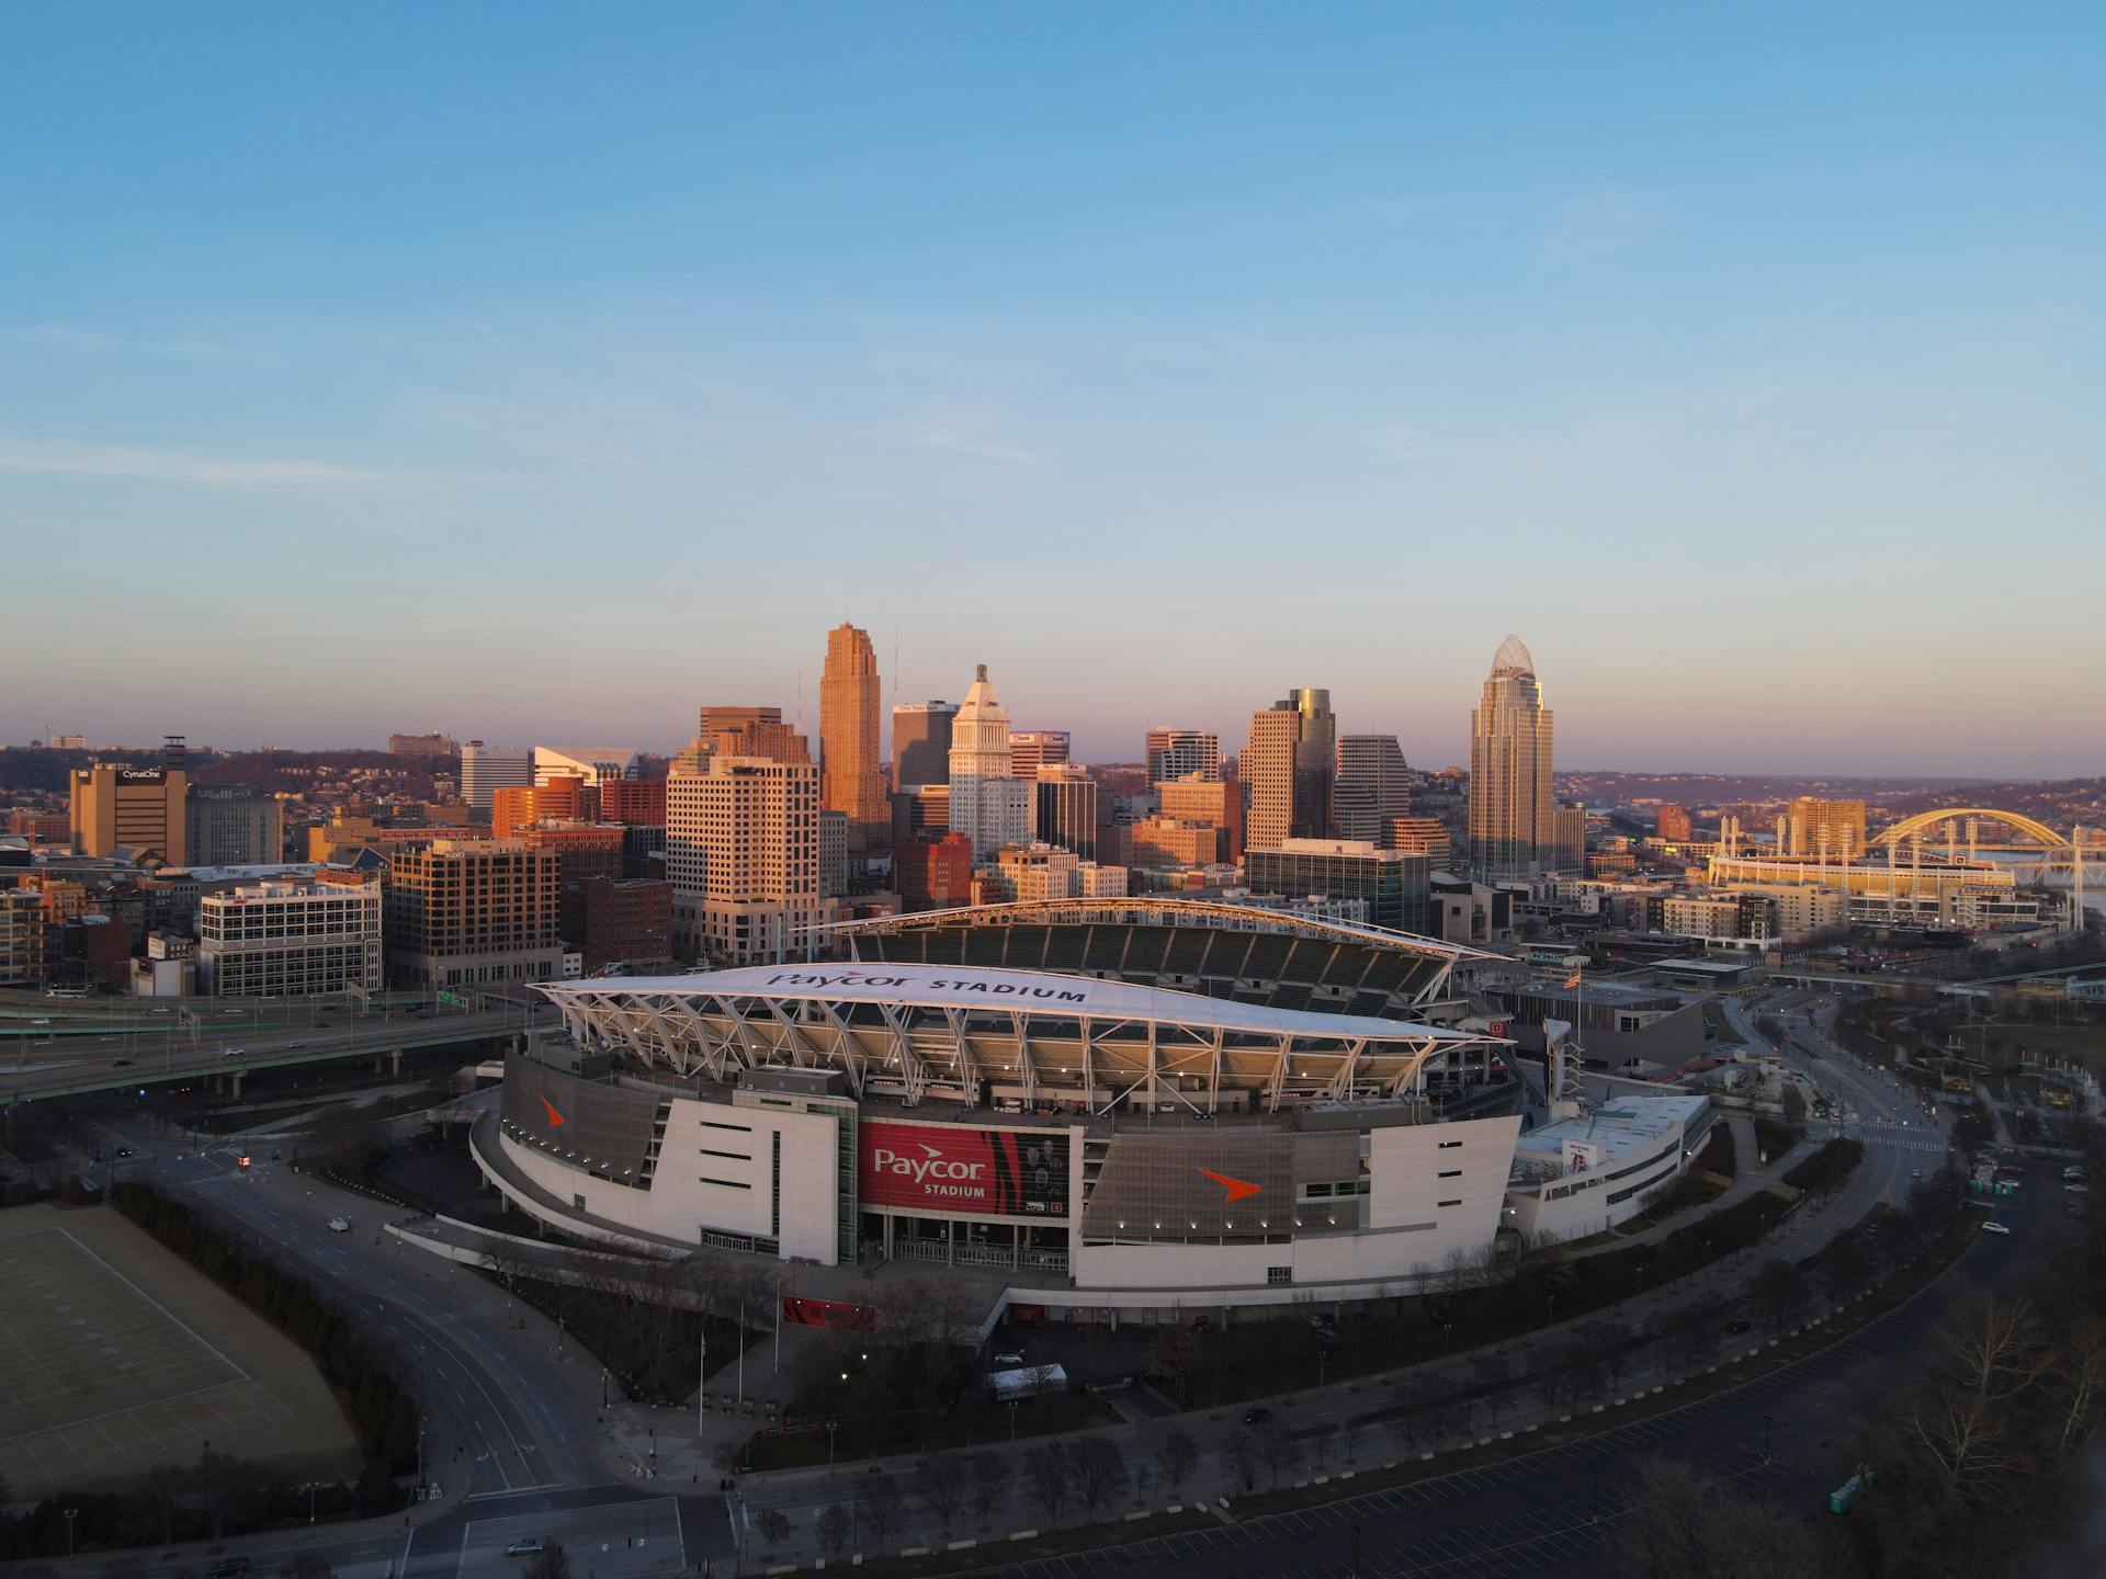
<svg viewBox="0 0 2106 1579">
<path fill-rule="evenodd" d="M 1483 1042 L 1481 1032 L 1457 1032 L 1369 1015 L 1323 1015 L 1306 1008 L 1266 1008 L 1196 992 L 1135 987 L 1051 971 L 998 971 L 969 964 L 760 964 L 737 971 L 701 971 L 678 977 L 594 977 L 543 981 L 552 1000 L 594 998 L 773 998 L 777 1002 L 868 1002 L 927 1008 L 994 1008 L 1040 1015 L 1087 1015 L 1097 1021 L 1154 1021 L 1255 1036 L 1331 1036 L 1369 1040 Z"/>
</svg>

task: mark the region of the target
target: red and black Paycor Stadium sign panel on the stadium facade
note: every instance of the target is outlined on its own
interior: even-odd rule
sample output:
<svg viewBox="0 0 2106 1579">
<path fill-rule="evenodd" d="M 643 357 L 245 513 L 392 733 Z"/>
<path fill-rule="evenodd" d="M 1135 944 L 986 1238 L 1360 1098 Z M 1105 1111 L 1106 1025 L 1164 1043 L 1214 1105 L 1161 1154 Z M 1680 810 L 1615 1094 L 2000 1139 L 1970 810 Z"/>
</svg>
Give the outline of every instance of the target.
<svg viewBox="0 0 2106 1579">
<path fill-rule="evenodd" d="M 1066 1217 L 1068 1135 L 946 1124 L 857 1126 L 863 1206 L 977 1217 Z"/>
</svg>

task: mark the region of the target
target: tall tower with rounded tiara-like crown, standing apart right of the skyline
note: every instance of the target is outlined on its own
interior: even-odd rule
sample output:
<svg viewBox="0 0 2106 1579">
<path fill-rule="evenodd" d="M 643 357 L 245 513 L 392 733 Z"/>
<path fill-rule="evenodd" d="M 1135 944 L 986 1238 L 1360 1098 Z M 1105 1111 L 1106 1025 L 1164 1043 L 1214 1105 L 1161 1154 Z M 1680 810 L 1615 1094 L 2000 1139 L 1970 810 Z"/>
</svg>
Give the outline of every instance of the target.
<svg viewBox="0 0 2106 1579">
<path fill-rule="evenodd" d="M 1550 709 L 1518 636 L 1499 642 L 1470 714 L 1470 865 L 1485 882 L 1552 861 Z"/>
</svg>

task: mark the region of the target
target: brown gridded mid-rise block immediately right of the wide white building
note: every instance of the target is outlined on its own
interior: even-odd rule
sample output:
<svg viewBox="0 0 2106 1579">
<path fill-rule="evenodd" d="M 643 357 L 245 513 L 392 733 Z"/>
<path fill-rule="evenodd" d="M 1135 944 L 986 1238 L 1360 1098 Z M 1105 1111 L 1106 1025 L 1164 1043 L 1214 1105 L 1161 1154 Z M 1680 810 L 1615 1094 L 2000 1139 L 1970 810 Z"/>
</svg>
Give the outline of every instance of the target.
<svg viewBox="0 0 2106 1579">
<path fill-rule="evenodd" d="M 383 888 L 388 983 L 480 987 L 554 981 L 556 851 L 516 838 L 400 846 Z"/>
</svg>

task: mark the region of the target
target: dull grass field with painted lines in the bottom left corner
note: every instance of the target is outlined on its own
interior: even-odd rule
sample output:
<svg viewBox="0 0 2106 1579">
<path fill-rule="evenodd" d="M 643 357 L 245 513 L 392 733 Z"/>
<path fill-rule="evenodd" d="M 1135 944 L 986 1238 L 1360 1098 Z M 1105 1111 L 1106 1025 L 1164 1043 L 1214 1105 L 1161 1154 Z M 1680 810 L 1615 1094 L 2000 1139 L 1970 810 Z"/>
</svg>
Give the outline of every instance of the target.
<svg viewBox="0 0 2106 1579">
<path fill-rule="evenodd" d="M 0 1213 L 0 1478 L 107 1486 L 213 1453 L 347 1474 L 307 1356 L 107 1206 Z"/>
</svg>

